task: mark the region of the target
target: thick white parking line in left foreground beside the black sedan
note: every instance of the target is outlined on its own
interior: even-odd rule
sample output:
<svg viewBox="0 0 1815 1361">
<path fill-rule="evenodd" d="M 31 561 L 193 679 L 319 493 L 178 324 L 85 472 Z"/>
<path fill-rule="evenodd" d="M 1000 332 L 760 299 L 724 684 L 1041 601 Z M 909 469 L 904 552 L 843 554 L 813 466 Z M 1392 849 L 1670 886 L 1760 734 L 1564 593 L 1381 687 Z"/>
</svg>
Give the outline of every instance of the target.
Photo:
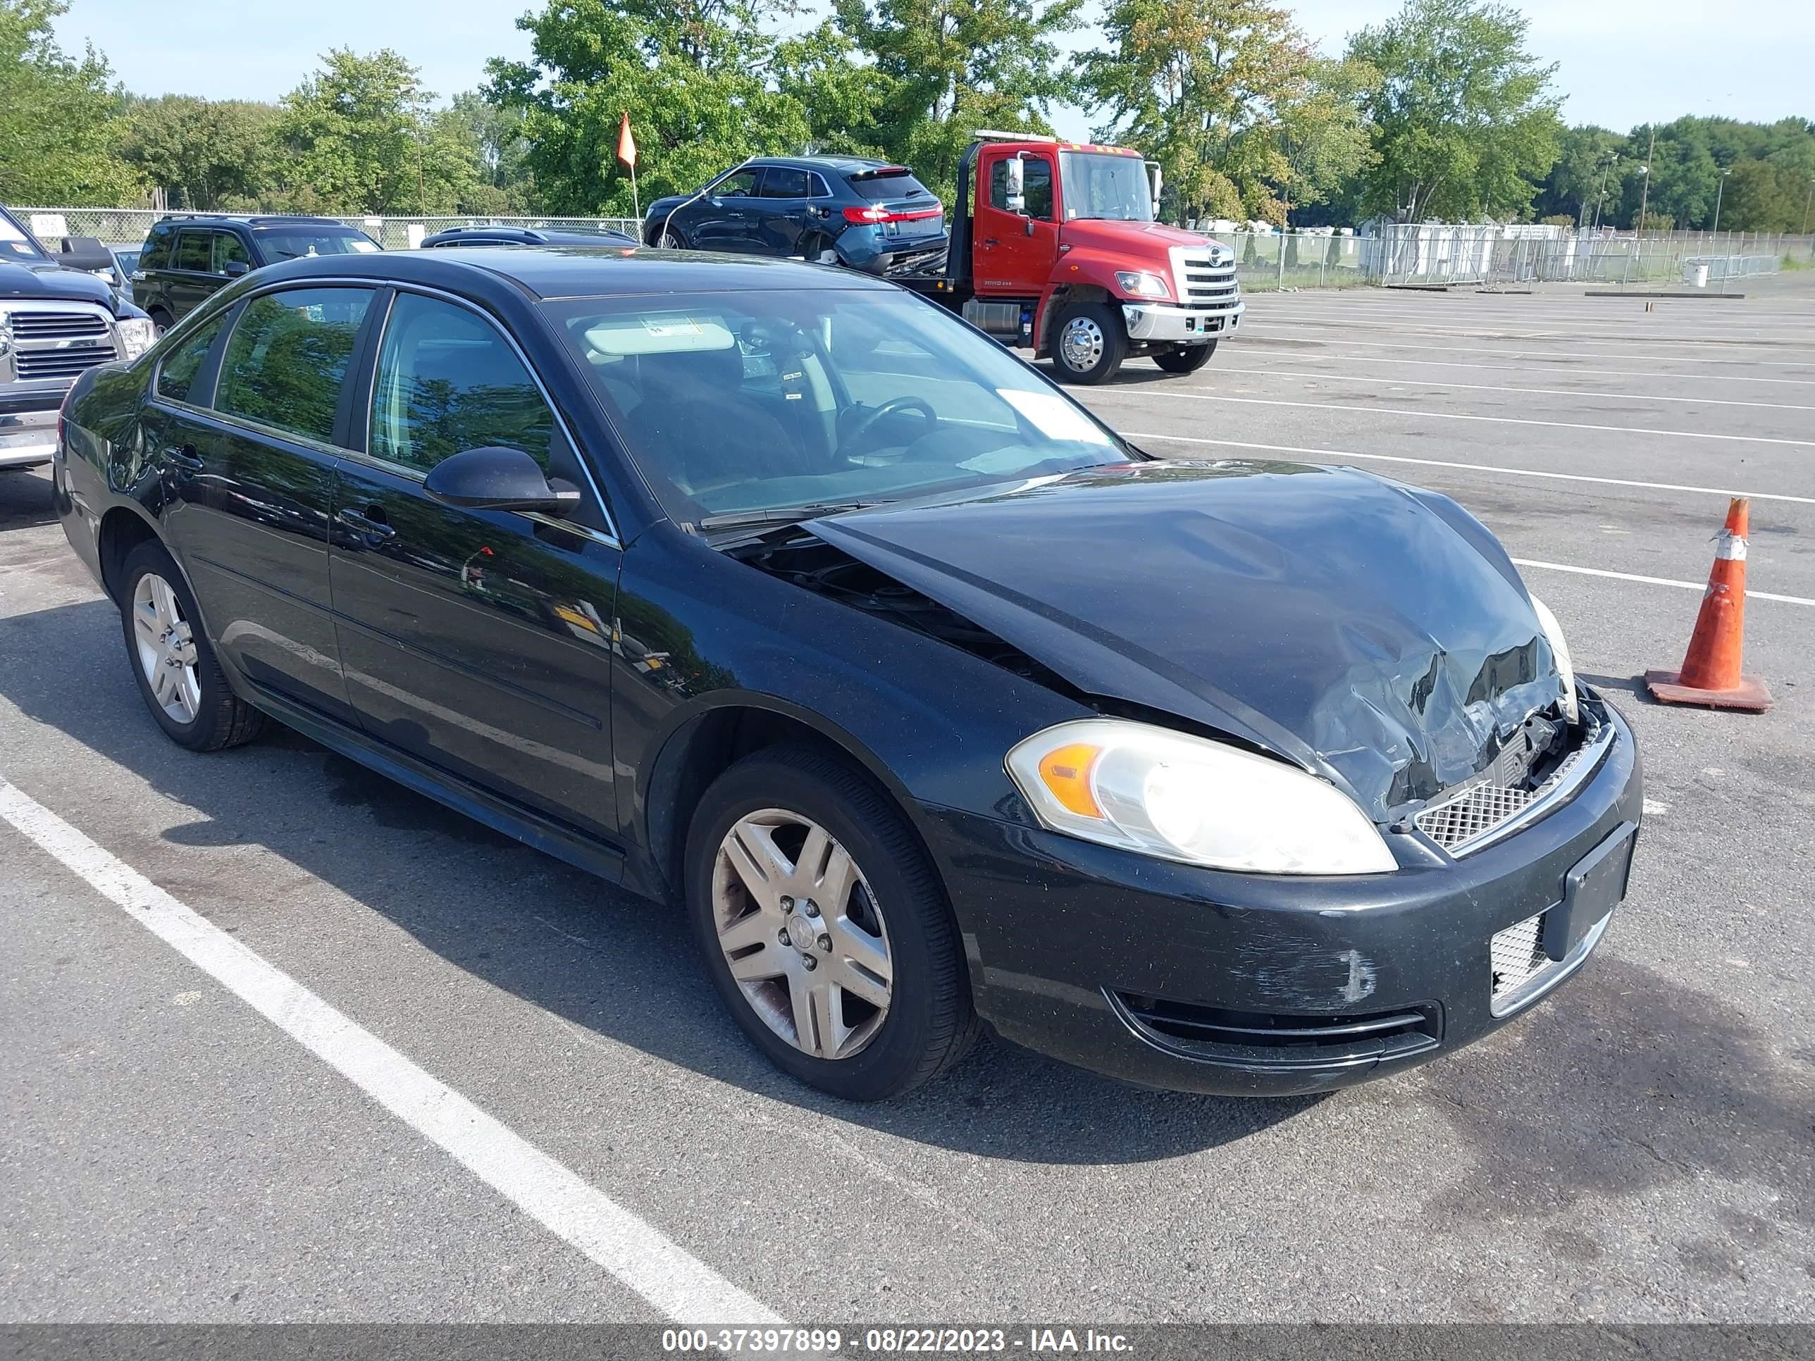
<svg viewBox="0 0 1815 1361">
<path fill-rule="evenodd" d="M 468 1172 L 684 1323 L 780 1317 L 0 777 L 0 818 Z"/>
</svg>

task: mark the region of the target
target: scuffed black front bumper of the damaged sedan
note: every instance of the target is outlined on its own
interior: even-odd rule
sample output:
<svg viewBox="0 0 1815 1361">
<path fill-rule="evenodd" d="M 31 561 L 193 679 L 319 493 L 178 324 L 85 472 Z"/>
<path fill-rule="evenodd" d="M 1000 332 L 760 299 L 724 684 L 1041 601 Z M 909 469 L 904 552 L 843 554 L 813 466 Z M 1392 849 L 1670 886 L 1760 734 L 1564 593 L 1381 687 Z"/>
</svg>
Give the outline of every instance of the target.
<svg viewBox="0 0 1815 1361">
<path fill-rule="evenodd" d="M 1641 820 L 1632 729 L 1608 715 L 1615 740 L 1566 804 L 1463 860 L 1432 851 L 1392 875 L 1231 875 L 926 808 L 978 1011 L 1078 1067 L 1231 1096 L 1329 1091 L 1470 1043 L 1606 933 L 1590 924 L 1516 1005 L 1496 1000 L 1496 935 L 1552 913 L 1565 876 Z"/>
</svg>

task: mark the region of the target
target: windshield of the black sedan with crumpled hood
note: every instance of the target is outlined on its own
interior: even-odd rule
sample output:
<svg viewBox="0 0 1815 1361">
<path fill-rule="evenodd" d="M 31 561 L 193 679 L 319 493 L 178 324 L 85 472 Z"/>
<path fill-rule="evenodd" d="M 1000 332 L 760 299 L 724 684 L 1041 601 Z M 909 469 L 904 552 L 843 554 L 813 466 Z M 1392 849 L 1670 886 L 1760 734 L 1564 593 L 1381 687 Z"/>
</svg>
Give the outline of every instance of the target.
<svg viewBox="0 0 1815 1361">
<path fill-rule="evenodd" d="M 898 501 L 1136 457 L 1000 345 L 911 294 L 544 307 L 679 521 Z"/>
</svg>

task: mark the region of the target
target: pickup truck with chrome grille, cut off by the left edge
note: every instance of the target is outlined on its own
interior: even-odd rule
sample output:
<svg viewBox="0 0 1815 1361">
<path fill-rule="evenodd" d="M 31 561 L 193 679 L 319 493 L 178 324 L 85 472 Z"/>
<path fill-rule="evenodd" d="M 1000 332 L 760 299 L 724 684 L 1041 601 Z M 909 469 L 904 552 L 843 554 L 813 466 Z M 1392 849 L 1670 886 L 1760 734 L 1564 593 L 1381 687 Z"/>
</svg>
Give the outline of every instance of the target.
<svg viewBox="0 0 1815 1361">
<path fill-rule="evenodd" d="M 96 258 L 94 269 L 111 265 Z M 151 318 L 91 272 L 80 249 L 56 256 L 0 209 L 0 472 L 49 463 L 69 385 L 143 354 L 154 338 Z"/>
</svg>

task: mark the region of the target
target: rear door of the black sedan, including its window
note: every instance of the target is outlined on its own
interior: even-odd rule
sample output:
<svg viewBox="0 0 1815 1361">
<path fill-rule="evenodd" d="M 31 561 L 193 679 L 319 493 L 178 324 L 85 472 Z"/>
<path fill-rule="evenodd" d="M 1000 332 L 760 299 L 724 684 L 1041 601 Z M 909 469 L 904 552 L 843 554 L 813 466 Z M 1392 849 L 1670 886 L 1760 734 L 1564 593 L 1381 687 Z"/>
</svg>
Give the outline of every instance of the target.
<svg viewBox="0 0 1815 1361">
<path fill-rule="evenodd" d="M 249 298 L 165 357 L 158 423 L 147 423 L 167 488 L 165 537 L 216 651 L 254 684 L 341 722 L 354 719 L 329 534 L 347 377 L 374 298 L 352 285 Z M 196 365 L 205 339 L 218 357 Z"/>
</svg>

